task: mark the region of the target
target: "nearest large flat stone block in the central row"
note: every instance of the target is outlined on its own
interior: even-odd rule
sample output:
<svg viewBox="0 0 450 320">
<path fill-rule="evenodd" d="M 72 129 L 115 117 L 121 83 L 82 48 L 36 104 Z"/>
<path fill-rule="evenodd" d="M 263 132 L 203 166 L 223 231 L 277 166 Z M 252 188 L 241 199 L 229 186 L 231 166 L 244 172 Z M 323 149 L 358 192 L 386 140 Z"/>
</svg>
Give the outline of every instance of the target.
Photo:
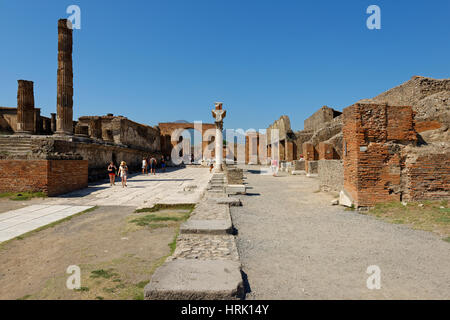
<svg viewBox="0 0 450 320">
<path fill-rule="evenodd" d="M 236 299 L 244 295 L 240 264 L 231 260 L 177 259 L 157 269 L 146 300 Z"/>
</svg>

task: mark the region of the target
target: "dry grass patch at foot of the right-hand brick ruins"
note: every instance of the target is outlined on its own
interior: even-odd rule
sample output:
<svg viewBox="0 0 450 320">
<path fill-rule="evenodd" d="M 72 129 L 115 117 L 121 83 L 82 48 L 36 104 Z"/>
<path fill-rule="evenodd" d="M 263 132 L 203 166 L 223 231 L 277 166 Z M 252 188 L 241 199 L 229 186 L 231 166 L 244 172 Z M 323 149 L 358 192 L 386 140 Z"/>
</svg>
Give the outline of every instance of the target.
<svg viewBox="0 0 450 320">
<path fill-rule="evenodd" d="M 437 233 L 450 242 L 450 208 L 448 201 L 420 201 L 379 203 L 364 214 L 395 224 L 406 224 L 414 229 Z"/>
</svg>

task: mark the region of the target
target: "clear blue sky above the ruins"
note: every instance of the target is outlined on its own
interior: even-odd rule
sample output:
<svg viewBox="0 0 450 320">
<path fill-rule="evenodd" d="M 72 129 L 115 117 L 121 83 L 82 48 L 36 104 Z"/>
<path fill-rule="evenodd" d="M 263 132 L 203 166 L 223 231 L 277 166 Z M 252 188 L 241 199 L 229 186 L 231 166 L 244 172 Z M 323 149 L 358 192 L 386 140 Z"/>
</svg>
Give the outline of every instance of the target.
<svg viewBox="0 0 450 320">
<path fill-rule="evenodd" d="M 293 129 L 322 105 L 341 110 L 413 75 L 450 77 L 449 0 L 0 0 L 0 105 L 17 79 L 56 112 L 57 20 L 81 8 L 74 31 L 74 117 L 114 113 L 156 125 L 211 122 Z M 366 8 L 381 7 L 381 30 Z"/>
</svg>

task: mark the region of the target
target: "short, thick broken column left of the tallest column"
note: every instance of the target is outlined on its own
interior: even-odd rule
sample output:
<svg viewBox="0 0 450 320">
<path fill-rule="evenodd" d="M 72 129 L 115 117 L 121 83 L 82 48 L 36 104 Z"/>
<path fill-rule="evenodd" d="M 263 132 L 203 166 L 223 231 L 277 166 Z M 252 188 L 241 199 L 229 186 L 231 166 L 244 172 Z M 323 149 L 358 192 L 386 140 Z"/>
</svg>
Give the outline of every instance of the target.
<svg viewBox="0 0 450 320">
<path fill-rule="evenodd" d="M 17 134 L 34 132 L 33 81 L 17 80 Z"/>
</svg>

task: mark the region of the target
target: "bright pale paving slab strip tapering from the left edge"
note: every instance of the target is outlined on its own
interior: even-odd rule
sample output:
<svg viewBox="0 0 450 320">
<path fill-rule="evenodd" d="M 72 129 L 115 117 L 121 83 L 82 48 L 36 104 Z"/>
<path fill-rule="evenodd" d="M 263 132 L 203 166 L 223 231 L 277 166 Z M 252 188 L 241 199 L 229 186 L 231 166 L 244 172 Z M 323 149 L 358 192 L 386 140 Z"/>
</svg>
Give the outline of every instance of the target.
<svg viewBox="0 0 450 320">
<path fill-rule="evenodd" d="M 93 206 L 32 205 L 0 214 L 0 242 L 18 237 Z"/>
</svg>

